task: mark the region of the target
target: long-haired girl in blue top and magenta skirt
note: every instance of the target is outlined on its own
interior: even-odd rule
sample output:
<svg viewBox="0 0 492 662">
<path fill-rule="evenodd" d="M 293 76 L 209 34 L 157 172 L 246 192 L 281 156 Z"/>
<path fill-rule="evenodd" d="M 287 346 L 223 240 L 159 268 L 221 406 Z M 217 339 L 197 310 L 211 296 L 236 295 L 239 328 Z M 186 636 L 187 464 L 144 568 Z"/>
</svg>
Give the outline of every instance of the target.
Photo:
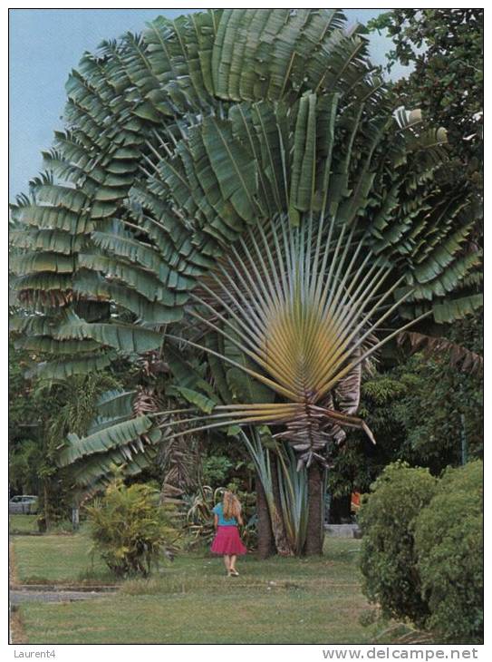
<svg viewBox="0 0 492 662">
<path fill-rule="evenodd" d="M 228 577 L 238 577 L 236 570 L 236 556 L 246 554 L 237 532 L 237 524 L 243 525 L 241 517 L 241 504 L 232 492 L 224 492 L 222 503 L 217 503 L 213 509 L 216 537 L 210 548 L 214 554 L 222 554 L 226 565 Z"/>
</svg>

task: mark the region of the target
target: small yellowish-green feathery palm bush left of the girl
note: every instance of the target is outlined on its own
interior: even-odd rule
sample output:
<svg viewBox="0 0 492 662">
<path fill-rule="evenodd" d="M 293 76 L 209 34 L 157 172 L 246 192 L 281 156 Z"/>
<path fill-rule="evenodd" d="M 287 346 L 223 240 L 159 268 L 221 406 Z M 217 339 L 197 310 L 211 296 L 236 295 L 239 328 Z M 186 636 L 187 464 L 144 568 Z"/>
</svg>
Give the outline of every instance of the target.
<svg viewBox="0 0 492 662">
<path fill-rule="evenodd" d="M 87 511 L 93 548 L 118 577 L 147 576 L 177 538 L 169 511 L 159 506 L 159 491 L 149 485 L 126 487 L 116 478 Z"/>
</svg>

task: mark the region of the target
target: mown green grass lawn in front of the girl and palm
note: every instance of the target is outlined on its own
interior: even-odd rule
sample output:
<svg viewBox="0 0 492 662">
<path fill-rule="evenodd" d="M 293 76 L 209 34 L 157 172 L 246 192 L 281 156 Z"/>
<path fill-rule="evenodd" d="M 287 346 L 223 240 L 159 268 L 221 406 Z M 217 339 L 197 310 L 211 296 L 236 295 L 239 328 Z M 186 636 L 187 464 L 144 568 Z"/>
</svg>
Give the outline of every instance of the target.
<svg viewBox="0 0 492 662">
<path fill-rule="evenodd" d="M 61 573 L 73 578 L 84 558 L 87 564 L 83 534 L 33 540 L 43 543 L 36 574 L 46 579 L 60 580 Z M 22 567 L 24 576 L 34 575 L 27 569 L 36 555 L 26 555 L 19 541 L 19 574 Z M 24 637 L 30 644 L 370 643 L 371 632 L 359 623 L 368 608 L 359 583 L 360 544 L 328 539 L 321 559 L 261 561 L 248 555 L 238 563 L 238 578 L 225 576 L 221 559 L 182 554 L 151 579 L 125 581 L 118 595 L 22 604 Z"/>
</svg>

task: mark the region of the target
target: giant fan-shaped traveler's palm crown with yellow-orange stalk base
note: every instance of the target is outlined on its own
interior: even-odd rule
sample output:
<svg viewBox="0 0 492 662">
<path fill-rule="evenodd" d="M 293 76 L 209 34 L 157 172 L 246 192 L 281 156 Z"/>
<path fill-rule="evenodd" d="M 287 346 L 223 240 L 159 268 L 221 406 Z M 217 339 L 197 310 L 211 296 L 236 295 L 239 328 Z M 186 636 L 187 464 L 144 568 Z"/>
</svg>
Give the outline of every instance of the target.
<svg viewBox="0 0 492 662">
<path fill-rule="evenodd" d="M 325 463 L 344 427 L 364 427 L 364 360 L 416 320 L 480 305 L 477 211 L 433 176 L 445 131 L 392 112 L 362 30 L 343 22 L 311 9 L 159 18 L 72 72 L 49 172 L 13 209 L 14 287 L 31 311 L 15 326 L 60 355 L 46 376 L 155 348 L 179 363 L 188 347 L 215 389 L 186 382 L 178 432 L 127 407 L 64 462 L 135 460 L 136 436 L 188 422 L 268 424 L 299 465 Z M 217 404 L 225 375 L 232 397 Z"/>
</svg>

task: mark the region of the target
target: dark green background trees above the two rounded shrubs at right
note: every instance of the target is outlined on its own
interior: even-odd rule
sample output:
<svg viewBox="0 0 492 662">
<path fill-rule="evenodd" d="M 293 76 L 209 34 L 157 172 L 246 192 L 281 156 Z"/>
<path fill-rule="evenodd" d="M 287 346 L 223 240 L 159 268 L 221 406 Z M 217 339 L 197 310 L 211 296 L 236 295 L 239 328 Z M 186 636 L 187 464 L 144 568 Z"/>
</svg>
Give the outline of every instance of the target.
<svg viewBox="0 0 492 662">
<path fill-rule="evenodd" d="M 439 475 L 483 455 L 483 369 L 463 369 L 453 352 L 480 357 L 483 322 L 468 317 L 441 329 L 450 349 L 430 346 L 409 355 L 408 344 L 381 356 L 377 369 L 361 387 L 359 412 L 376 445 L 351 433 L 333 462 L 328 490 L 336 499 L 368 492 L 390 462 L 402 460 Z"/>
</svg>

